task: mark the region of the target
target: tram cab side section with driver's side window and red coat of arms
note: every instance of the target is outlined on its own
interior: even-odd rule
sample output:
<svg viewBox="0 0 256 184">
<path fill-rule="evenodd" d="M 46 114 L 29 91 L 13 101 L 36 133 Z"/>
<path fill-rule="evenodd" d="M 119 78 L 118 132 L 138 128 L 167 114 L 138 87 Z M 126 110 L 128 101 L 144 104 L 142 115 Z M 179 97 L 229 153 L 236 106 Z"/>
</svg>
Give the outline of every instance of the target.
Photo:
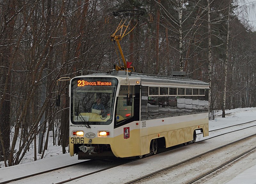
<svg viewBox="0 0 256 184">
<path fill-rule="evenodd" d="M 140 155 L 140 126 L 135 123 L 135 121 L 139 122 L 140 114 L 138 105 L 140 104 L 139 86 L 121 85 L 117 96 L 114 124 L 114 131 L 117 136 L 114 138 L 114 150 L 118 157 Z M 128 89 L 131 98 L 130 104 L 127 103 Z"/>
</svg>

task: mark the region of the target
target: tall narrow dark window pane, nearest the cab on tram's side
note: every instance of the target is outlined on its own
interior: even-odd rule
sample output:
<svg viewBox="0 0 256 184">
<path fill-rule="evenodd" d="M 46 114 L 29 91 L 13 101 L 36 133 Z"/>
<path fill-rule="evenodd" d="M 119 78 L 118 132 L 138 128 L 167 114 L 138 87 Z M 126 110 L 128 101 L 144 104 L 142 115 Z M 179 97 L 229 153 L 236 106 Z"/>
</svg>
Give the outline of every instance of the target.
<svg viewBox="0 0 256 184">
<path fill-rule="evenodd" d="M 148 86 L 141 86 L 140 120 L 148 120 Z"/>
</svg>

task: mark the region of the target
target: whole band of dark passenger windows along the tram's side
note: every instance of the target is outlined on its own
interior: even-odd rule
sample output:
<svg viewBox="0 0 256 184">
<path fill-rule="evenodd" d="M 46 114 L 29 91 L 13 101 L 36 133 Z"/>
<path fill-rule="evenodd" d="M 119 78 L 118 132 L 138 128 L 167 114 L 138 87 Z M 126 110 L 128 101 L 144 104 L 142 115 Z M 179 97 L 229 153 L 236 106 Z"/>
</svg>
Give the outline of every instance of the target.
<svg viewBox="0 0 256 184">
<path fill-rule="evenodd" d="M 208 89 L 141 86 L 141 120 L 203 113 L 208 105 Z"/>
</svg>

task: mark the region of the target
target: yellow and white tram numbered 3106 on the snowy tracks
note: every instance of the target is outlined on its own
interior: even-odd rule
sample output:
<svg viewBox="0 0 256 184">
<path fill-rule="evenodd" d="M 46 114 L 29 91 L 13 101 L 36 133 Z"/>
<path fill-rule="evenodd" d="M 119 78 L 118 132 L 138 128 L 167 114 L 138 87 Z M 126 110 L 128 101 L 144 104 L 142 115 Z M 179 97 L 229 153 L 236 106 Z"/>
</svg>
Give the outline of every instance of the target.
<svg viewBox="0 0 256 184">
<path fill-rule="evenodd" d="M 143 156 L 209 135 L 209 84 L 125 71 L 70 81 L 70 155 Z M 97 107 L 96 107 L 97 106 Z"/>
</svg>

